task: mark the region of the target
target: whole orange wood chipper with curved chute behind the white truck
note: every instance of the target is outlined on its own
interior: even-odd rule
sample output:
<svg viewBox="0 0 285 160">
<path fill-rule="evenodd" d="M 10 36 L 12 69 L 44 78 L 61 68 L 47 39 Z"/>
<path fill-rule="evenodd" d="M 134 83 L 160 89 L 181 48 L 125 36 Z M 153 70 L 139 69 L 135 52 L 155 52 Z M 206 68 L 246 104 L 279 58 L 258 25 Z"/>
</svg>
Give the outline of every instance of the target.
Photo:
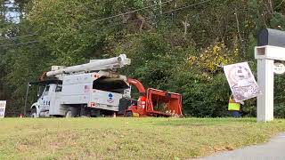
<svg viewBox="0 0 285 160">
<path fill-rule="evenodd" d="M 181 94 L 153 88 L 145 90 L 138 80 L 128 78 L 127 81 L 136 87 L 140 97 L 138 100 L 126 100 L 125 106 L 128 107 L 119 109 L 124 111 L 124 116 L 183 116 Z"/>
</svg>

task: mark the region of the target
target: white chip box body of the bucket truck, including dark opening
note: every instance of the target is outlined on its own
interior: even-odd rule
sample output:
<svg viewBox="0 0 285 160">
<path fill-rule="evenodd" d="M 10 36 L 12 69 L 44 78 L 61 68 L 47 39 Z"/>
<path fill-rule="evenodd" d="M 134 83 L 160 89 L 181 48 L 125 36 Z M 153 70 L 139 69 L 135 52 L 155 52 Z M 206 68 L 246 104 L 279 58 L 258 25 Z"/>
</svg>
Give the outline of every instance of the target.
<svg viewBox="0 0 285 160">
<path fill-rule="evenodd" d="M 105 73 L 106 74 L 106 73 Z M 129 88 L 123 77 L 81 74 L 65 76 L 62 85 L 62 104 L 86 104 L 91 108 L 118 111 L 119 100 Z"/>
</svg>

